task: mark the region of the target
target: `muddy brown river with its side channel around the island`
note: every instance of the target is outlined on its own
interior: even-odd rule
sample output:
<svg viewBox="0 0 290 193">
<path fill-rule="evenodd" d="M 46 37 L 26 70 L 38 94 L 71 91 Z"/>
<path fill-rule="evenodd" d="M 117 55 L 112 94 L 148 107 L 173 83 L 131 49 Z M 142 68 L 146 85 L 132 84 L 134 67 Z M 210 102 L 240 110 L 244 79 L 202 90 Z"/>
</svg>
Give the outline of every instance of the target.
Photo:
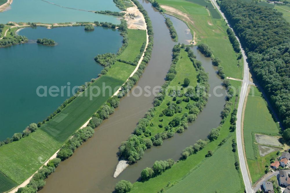
<svg viewBox="0 0 290 193">
<path fill-rule="evenodd" d="M 139 0 L 147 10 L 154 30 L 154 46 L 151 60 L 146 67 L 138 86 L 144 88 L 161 86 L 166 73 L 171 65 L 172 48 L 176 44 L 171 40 L 165 19 L 148 1 Z M 171 18 L 177 31 L 179 42 L 185 43 L 192 39 L 186 24 L 177 18 Z M 189 123 L 189 128 L 181 134 L 164 140 L 161 146 L 153 146 L 145 151 L 141 160 L 128 166 L 117 178 L 113 174 L 118 163 L 117 151 L 122 141 L 134 131 L 138 119 L 153 106 L 154 95 L 151 96 L 125 96 L 120 100 L 120 105 L 113 115 L 110 115 L 96 130 L 92 138 L 82 144 L 64 162 L 61 162 L 56 171 L 46 179 L 46 185 L 40 193 L 50 192 L 112 192 L 115 184 L 124 179 L 132 183 L 137 181 L 142 169 L 152 167 L 155 160 L 173 158 L 178 160 L 180 153 L 185 147 L 192 145 L 196 140 L 204 139 L 211 128 L 220 123 L 220 112 L 225 103 L 225 89 L 218 89 L 222 97 L 213 95 L 213 88 L 220 86 L 222 81 L 216 74 L 215 67 L 210 58 L 205 58 L 196 47 L 192 47 L 197 59 L 202 62 L 206 72 L 209 73 L 211 96 L 196 121 Z M 134 90 L 134 89 L 133 89 Z M 139 93 L 137 90 L 135 93 Z"/>
</svg>

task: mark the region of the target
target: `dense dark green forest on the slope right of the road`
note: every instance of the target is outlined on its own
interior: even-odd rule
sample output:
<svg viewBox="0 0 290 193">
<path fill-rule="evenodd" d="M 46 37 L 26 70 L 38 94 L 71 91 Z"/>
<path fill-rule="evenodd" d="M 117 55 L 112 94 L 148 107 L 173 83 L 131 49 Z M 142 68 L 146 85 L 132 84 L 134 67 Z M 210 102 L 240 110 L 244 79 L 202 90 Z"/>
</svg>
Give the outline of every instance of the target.
<svg viewBox="0 0 290 193">
<path fill-rule="evenodd" d="M 290 128 L 290 25 L 282 13 L 254 3 L 222 0 L 221 10 L 247 52 L 250 68 Z"/>
</svg>

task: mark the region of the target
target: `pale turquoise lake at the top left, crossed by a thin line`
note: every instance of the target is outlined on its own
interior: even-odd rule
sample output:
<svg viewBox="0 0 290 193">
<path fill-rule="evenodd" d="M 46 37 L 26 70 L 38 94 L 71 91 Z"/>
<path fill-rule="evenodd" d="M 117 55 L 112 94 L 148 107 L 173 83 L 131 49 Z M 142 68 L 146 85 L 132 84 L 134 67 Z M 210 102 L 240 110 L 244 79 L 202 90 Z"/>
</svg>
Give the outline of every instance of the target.
<svg viewBox="0 0 290 193">
<path fill-rule="evenodd" d="M 48 0 L 60 6 L 82 10 L 110 10 L 121 11 L 113 0 Z M 93 12 L 74 10 L 53 5 L 42 0 L 13 0 L 11 6 L 4 12 L 0 12 L 0 24 L 7 22 L 111 22 L 120 23 L 120 17 L 96 14 Z"/>
</svg>

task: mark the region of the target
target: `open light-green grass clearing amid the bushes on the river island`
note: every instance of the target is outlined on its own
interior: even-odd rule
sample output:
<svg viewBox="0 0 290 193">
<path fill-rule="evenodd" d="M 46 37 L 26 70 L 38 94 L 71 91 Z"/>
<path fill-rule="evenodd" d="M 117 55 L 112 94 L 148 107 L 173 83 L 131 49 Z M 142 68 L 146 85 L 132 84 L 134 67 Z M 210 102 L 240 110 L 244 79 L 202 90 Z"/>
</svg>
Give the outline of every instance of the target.
<svg viewBox="0 0 290 193">
<path fill-rule="evenodd" d="M 187 77 L 190 79 L 190 84 L 189 86 L 195 88 L 197 85 L 197 72 L 195 67 L 193 66 L 193 63 L 189 60 L 188 56 L 187 56 L 187 52 L 184 51 L 184 49 L 180 50 L 180 59 L 178 60 L 175 70 L 177 72 L 175 78 L 170 82 L 169 86 L 173 87 L 173 88 L 177 88 L 177 87 L 182 87 L 184 78 Z M 180 89 L 179 88 L 179 89 Z M 186 92 L 186 88 L 184 90 L 182 90 L 182 93 Z M 184 97 L 176 97 L 176 100 L 178 99 L 183 99 Z M 176 101 L 172 101 L 172 97 L 166 95 L 164 100 L 162 101 L 161 105 L 158 107 L 155 107 L 155 117 L 153 117 L 151 119 L 150 122 L 153 122 L 154 126 L 147 126 L 146 129 L 150 130 L 152 132 L 151 136 L 149 136 L 149 138 L 151 138 L 152 136 L 154 136 L 157 133 L 163 132 L 165 129 L 164 127 L 166 125 L 168 125 L 169 121 L 171 121 L 174 117 L 181 117 L 185 112 L 189 112 L 188 109 L 186 109 L 186 105 L 188 103 L 182 101 L 179 105 L 183 108 L 181 113 L 175 113 L 172 117 L 167 117 L 167 116 L 163 116 L 163 117 L 159 117 L 159 115 L 162 113 L 162 111 L 164 109 L 167 108 L 166 103 L 171 101 L 172 103 L 175 103 Z M 189 101 L 189 103 L 191 103 L 192 101 Z M 160 122 L 159 120 L 163 119 L 162 122 Z M 160 128 L 158 125 L 162 124 L 163 128 Z M 144 135 L 144 134 L 143 134 Z M 145 137 L 143 136 L 142 137 Z"/>
</svg>

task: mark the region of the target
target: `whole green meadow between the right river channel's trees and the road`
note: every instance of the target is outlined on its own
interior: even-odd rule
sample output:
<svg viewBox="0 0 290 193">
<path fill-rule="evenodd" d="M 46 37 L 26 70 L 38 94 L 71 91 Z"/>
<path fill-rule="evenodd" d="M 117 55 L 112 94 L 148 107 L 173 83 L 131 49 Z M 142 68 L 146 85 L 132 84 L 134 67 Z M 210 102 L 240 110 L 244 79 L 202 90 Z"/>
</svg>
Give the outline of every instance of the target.
<svg viewBox="0 0 290 193">
<path fill-rule="evenodd" d="M 241 86 L 240 81 L 230 80 L 230 82 L 236 88 Z M 235 97 L 231 100 L 233 102 L 231 110 L 233 110 Z M 234 165 L 235 161 L 237 161 L 237 152 L 231 152 L 231 139 L 235 136 L 235 133 L 229 130 L 231 125 L 230 119 L 231 116 L 229 115 L 220 130 L 220 135 L 217 140 L 210 142 L 204 149 L 189 156 L 186 160 L 175 163 L 171 169 L 164 171 L 161 175 L 150 178 L 145 182 L 134 183 L 133 189 L 130 192 L 158 192 L 163 189 L 168 190 L 168 192 L 192 192 L 192 190 L 201 190 L 199 192 L 207 193 L 219 189 L 223 192 L 225 187 L 230 188 L 229 190 L 232 192 L 243 192 L 242 174 L 235 169 Z M 224 138 L 228 139 L 227 143 L 218 146 Z M 205 158 L 209 150 L 213 151 L 213 156 L 211 158 Z M 226 167 L 220 167 L 219 163 L 223 161 L 225 163 L 222 163 L 222 166 L 227 165 Z M 199 168 L 203 168 L 204 171 L 202 172 Z M 217 177 L 209 177 L 213 175 Z M 229 178 L 229 176 L 231 177 Z M 190 184 L 185 185 L 188 181 Z M 224 183 L 227 183 L 227 186 L 224 186 Z M 221 184 L 223 184 L 223 187 Z M 201 187 L 203 185 L 206 187 L 205 189 Z M 193 187 L 197 189 L 193 189 Z"/>
</svg>

